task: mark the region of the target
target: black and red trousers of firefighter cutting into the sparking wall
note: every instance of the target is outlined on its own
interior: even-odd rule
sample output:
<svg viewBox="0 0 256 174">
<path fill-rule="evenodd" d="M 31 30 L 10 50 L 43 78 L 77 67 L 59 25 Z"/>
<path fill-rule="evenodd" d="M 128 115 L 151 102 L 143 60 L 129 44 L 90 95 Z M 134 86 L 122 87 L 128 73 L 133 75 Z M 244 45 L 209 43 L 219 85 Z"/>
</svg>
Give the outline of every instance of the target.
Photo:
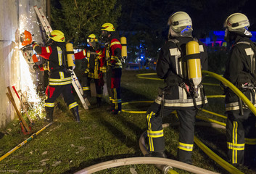
<svg viewBox="0 0 256 174">
<path fill-rule="evenodd" d="M 75 101 L 71 84 L 62 86 L 47 86 L 45 107 L 54 108 L 54 101 L 62 94 L 65 103 L 69 109 L 78 106 Z"/>
</svg>

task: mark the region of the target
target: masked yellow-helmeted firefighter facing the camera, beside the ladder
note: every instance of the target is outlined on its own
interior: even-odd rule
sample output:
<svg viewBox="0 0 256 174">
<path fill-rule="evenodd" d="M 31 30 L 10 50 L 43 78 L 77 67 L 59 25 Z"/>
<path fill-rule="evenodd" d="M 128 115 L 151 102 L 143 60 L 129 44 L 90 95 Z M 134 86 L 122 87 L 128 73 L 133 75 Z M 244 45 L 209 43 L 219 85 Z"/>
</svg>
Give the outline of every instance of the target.
<svg viewBox="0 0 256 174">
<path fill-rule="evenodd" d="M 87 43 L 90 45 L 88 49 L 84 49 L 80 53 L 75 54 L 75 59 L 83 59 L 84 73 L 82 75 L 83 97 L 88 98 L 91 96 L 90 83 L 94 79 L 96 88 L 96 103 L 100 107 L 102 105 L 102 86 L 104 86 L 103 73 L 106 72 L 104 67 L 104 57 L 99 57 L 94 47 L 99 47 L 99 40 L 95 34 L 91 34 L 87 38 Z M 79 54 L 85 54 L 79 55 Z M 84 59 L 87 58 L 87 59 Z"/>
</svg>

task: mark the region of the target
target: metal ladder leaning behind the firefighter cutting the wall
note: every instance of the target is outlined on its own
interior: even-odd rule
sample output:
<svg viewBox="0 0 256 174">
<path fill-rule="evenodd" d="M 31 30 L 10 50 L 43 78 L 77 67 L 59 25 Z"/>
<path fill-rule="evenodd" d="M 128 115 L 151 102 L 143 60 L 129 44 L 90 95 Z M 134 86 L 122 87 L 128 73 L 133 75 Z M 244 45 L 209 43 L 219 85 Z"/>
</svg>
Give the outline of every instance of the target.
<svg viewBox="0 0 256 174">
<path fill-rule="evenodd" d="M 44 15 L 43 9 L 39 8 L 37 6 L 34 6 L 35 12 L 38 16 L 38 19 L 41 22 L 41 25 L 43 26 L 46 35 L 49 36 L 52 29 L 51 26 L 49 25 L 48 20 L 46 19 L 46 16 Z M 75 92 L 78 94 L 78 97 L 81 101 L 81 103 L 83 104 L 83 108 L 84 109 L 88 109 L 88 107 L 91 105 L 90 102 L 88 101 L 88 99 L 83 99 L 83 88 L 79 83 L 78 78 L 75 75 L 75 72 L 72 70 L 71 71 L 71 78 L 72 78 L 72 85 L 75 88 Z"/>
</svg>

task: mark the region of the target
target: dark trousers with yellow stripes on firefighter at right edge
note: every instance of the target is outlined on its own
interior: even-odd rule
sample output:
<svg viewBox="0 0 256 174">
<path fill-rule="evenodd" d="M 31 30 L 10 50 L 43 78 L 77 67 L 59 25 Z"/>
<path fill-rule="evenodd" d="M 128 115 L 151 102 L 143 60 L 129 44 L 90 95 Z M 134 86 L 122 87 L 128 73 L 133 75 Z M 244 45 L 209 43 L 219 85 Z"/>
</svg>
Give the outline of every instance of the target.
<svg viewBox="0 0 256 174">
<path fill-rule="evenodd" d="M 256 117 L 249 109 L 244 109 L 244 115 L 240 115 L 239 110 L 228 111 L 227 114 L 228 161 L 249 165 L 256 157 Z"/>
</svg>

